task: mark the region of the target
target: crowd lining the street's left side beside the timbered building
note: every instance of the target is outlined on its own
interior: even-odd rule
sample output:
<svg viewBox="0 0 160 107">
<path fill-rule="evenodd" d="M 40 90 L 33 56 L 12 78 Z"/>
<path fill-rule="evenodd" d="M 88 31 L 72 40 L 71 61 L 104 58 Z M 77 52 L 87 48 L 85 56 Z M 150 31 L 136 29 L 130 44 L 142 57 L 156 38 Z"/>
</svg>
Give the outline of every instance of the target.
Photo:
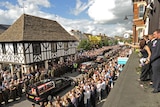
<svg viewBox="0 0 160 107">
<path fill-rule="evenodd" d="M 79 56 L 76 63 L 81 63 L 83 61 L 91 60 L 87 56 Z M 40 67 L 35 70 L 29 70 L 27 73 L 23 73 L 19 77 L 17 72 L 12 75 L 9 69 L 1 69 L 0 71 L 0 104 L 8 104 L 9 100 L 13 101 L 16 98 L 22 97 L 22 94 L 27 91 L 28 85 L 32 85 L 37 81 L 43 80 L 45 78 L 59 77 L 67 72 L 72 72 L 73 70 L 73 58 L 63 63 L 50 63 L 48 69 Z M 15 70 L 17 71 L 17 70 Z"/>
</svg>

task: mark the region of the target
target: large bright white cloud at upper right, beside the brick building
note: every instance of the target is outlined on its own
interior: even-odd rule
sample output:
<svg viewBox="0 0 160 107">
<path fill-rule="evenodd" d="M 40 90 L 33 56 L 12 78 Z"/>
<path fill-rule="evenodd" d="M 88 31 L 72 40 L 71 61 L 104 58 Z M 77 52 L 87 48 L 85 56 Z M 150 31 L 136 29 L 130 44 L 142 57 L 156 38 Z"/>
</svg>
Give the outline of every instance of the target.
<svg viewBox="0 0 160 107">
<path fill-rule="evenodd" d="M 87 8 L 84 9 L 83 7 Z M 83 27 L 81 26 L 83 22 L 79 23 L 78 25 L 81 27 L 78 30 L 84 29 L 88 33 L 104 33 L 113 36 L 122 35 L 132 29 L 132 18 L 129 18 L 128 21 L 123 20 L 125 15 L 133 14 L 131 0 L 88 0 L 88 4 L 77 0 L 77 7 L 75 8 L 77 14 L 85 10 L 93 21 L 84 22 L 85 26 Z"/>
</svg>

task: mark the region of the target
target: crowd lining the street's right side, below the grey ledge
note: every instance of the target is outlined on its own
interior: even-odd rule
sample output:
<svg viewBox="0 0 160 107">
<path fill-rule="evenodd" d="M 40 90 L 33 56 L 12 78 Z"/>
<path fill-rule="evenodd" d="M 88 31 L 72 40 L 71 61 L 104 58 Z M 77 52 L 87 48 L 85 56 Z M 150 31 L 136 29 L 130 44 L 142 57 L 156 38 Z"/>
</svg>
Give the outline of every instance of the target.
<svg viewBox="0 0 160 107">
<path fill-rule="evenodd" d="M 114 81 L 122 72 L 123 65 L 117 63 L 117 58 L 129 57 L 129 51 L 130 49 L 115 51 L 117 54 L 111 60 L 89 70 L 93 75 L 85 74 L 82 78 L 77 78 L 74 89 L 63 97 L 55 97 L 54 102 L 49 102 L 47 107 L 96 107 L 97 102 L 107 97 Z"/>
</svg>

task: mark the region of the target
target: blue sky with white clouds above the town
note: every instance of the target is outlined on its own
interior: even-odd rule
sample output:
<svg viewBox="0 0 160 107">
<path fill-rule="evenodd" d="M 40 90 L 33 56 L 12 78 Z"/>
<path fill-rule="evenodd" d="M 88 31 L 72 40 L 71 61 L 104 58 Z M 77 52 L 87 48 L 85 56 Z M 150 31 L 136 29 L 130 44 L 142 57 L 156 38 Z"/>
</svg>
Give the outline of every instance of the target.
<svg viewBox="0 0 160 107">
<path fill-rule="evenodd" d="M 11 25 L 24 13 L 55 20 L 68 32 L 107 36 L 132 32 L 131 0 L 0 0 L 0 24 Z"/>
</svg>

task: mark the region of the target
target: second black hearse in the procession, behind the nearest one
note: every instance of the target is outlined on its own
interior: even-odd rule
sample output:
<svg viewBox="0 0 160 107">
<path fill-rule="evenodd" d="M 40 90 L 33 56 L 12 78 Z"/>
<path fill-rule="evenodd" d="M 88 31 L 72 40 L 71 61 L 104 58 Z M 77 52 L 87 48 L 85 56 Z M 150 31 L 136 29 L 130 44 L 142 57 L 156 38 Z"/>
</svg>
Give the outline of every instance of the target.
<svg viewBox="0 0 160 107">
<path fill-rule="evenodd" d="M 96 68 L 97 65 L 94 61 L 83 62 L 80 64 L 80 73 L 87 73 L 89 69 Z"/>
</svg>

